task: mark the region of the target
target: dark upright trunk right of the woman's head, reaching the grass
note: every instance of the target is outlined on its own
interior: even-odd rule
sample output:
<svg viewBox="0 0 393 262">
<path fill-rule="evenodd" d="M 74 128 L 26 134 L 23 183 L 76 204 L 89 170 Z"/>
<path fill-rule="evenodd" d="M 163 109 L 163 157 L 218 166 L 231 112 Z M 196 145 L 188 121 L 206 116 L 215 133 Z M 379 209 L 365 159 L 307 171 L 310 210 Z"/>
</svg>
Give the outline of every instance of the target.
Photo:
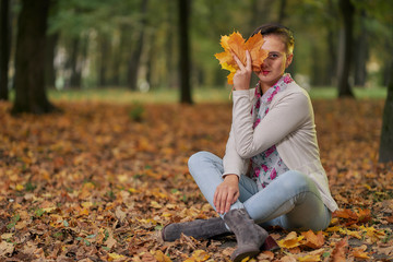
<svg viewBox="0 0 393 262">
<path fill-rule="evenodd" d="M 338 1 L 342 26 L 340 29 L 340 49 L 338 49 L 338 97 L 354 97 L 354 93 L 349 85 L 349 70 L 352 62 L 352 48 L 353 48 L 353 17 L 355 8 L 350 0 Z"/>
</svg>

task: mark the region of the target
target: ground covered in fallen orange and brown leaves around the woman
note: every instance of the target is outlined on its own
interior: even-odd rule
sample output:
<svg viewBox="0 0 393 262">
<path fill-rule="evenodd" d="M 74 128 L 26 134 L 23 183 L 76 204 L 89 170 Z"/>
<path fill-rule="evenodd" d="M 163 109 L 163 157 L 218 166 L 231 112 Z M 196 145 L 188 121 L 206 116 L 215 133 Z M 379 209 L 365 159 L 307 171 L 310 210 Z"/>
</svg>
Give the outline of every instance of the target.
<svg viewBox="0 0 393 262">
<path fill-rule="evenodd" d="M 188 174 L 198 151 L 224 154 L 230 104 L 0 104 L 1 261 L 228 261 L 233 236 L 163 242 L 170 222 L 215 216 Z M 392 164 L 378 164 L 383 100 L 313 100 L 322 163 L 342 210 L 322 233 L 270 230 L 257 261 L 390 261 Z"/>
</svg>

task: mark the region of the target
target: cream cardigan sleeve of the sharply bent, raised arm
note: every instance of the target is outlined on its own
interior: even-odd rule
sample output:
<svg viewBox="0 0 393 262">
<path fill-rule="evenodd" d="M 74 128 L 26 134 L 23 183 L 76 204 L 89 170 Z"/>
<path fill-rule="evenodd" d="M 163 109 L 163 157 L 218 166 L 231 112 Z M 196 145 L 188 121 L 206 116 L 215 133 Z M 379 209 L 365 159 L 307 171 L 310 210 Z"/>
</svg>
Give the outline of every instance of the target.
<svg viewBox="0 0 393 262">
<path fill-rule="evenodd" d="M 269 114 L 252 129 L 249 94 L 234 92 L 234 142 L 241 158 L 250 158 L 279 143 L 309 119 L 311 109 L 303 93 L 286 93 L 276 99 L 272 102 Z"/>
</svg>

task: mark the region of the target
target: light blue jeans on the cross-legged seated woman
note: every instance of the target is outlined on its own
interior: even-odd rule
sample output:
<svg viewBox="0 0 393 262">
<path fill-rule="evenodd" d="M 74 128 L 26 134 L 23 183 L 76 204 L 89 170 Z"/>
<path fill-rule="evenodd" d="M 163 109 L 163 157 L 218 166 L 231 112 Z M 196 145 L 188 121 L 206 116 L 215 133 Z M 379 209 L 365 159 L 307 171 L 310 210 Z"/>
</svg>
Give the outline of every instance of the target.
<svg viewBox="0 0 393 262">
<path fill-rule="evenodd" d="M 224 181 L 223 160 L 209 152 L 199 152 L 189 159 L 189 170 L 202 194 L 213 204 L 214 192 Z M 247 176 L 239 179 L 240 196 L 230 209 L 246 209 L 261 226 L 285 229 L 323 230 L 332 218 L 314 182 L 306 175 L 289 170 L 279 175 L 263 190 Z"/>
</svg>

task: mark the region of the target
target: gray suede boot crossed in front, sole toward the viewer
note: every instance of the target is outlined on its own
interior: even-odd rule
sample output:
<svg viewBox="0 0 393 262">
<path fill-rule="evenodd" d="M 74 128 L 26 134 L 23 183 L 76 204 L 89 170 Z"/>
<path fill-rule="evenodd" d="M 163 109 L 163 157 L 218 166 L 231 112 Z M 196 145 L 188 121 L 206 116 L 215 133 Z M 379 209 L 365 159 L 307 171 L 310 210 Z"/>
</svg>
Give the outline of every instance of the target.
<svg viewBox="0 0 393 262">
<path fill-rule="evenodd" d="M 260 253 L 260 248 L 269 234 L 250 218 L 245 209 L 229 211 L 225 214 L 224 222 L 235 233 L 238 243 L 230 257 L 234 262 L 240 262 L 247 257 L 251 259 Z"/>
</svg>

